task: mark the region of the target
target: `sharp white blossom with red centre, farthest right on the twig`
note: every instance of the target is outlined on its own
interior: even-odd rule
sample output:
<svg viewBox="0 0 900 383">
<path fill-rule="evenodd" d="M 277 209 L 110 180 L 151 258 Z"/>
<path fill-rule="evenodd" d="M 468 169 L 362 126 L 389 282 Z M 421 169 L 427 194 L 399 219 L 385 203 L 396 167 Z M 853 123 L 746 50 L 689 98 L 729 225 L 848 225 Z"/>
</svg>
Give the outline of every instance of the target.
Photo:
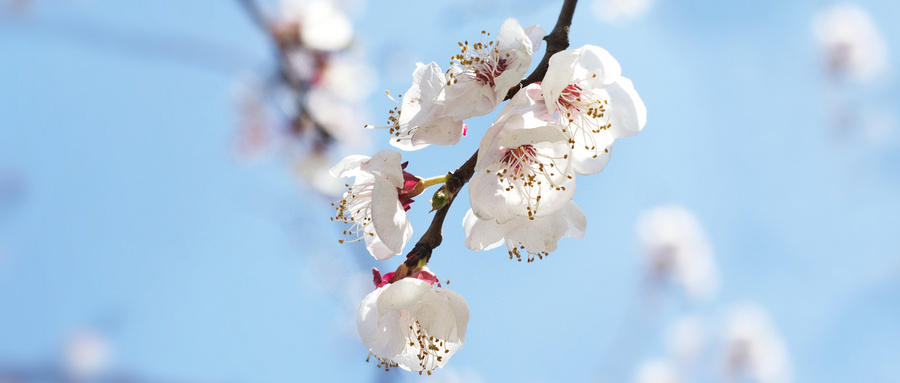
<svg viewBox="0 0 900 383">
<path fill-rule="evenodd" d="M 609 52 L 592 45 L 550 58 L 541 89 L 569 138 L 577 174 L 603 170 L 613 140 L 637 134 L 647 122 L 644 102 L 621 72 Z"/>
</svg>

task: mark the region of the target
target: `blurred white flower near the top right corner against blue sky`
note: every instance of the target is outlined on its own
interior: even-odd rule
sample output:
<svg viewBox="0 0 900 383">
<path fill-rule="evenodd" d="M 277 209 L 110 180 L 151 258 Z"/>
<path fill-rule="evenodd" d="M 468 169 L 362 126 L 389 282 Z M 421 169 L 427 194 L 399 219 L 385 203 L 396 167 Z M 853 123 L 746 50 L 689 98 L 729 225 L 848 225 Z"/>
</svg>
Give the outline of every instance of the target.
<svg viewBox="0 0 900 383">
<path fill-rule="evenodd" d="M 813 19 L 812 29 L 835 74 L 867 82 L 887 72 L 887 45 L 872 17 L 859 6 L 825 8 Z"/>
</svg>

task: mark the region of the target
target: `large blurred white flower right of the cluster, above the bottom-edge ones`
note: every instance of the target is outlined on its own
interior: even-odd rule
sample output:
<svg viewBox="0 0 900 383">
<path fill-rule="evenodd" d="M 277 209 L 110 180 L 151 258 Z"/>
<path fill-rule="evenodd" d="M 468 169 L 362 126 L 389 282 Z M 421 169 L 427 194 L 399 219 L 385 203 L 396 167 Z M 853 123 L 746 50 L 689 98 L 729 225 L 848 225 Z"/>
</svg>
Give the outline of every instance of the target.
<svg viewBox="0 0 900 383">
<path fill-rule="evenodd" d="M 712 246 L 694 215 L 680 206 L 658 207 L 637 223 L 649 274 L 681 286 L 693 299 L 711 298 L 719 280 Z"/>
</svg>

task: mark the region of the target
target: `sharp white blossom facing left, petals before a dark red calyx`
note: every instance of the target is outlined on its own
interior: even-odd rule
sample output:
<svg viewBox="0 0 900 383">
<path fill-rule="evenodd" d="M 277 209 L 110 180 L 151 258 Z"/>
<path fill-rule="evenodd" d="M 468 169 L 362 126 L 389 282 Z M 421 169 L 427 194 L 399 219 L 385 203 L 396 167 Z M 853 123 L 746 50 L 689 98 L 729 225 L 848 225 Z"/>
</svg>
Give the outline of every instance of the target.
<svg viewBox="0 0 900 383">
<path fill-rule="evenodd" d="M 356 177 L 353 186 L 336 204 L 333 218 L 352 224 L 345 234 L 364 240 L 378 260 L 400 254 L 412 237 L 412 225 L 400 201 L 404 188 L 400 153 L 382 150 L 369 158 L 348 156 L 331 169 L 336 177 Z M 342 241 L 343 242 L 343 241 Z"/>
</svg>

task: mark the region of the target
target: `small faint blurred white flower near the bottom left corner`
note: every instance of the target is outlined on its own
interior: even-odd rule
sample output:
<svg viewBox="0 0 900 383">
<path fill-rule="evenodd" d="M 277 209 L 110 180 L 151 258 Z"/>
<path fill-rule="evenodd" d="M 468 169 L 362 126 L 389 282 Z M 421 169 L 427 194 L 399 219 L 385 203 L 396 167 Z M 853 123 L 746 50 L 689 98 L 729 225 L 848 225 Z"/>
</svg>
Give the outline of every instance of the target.
<svg viewBox="0 0 900 383">
<path fill-rule="evenodd" d="M 63 369 L 76 380 L 92 379 L 106 369 L 109 357 L 109 344 L 102 334 L 91 329 L 76 330 L 66 340 Z"/>
</svg>

